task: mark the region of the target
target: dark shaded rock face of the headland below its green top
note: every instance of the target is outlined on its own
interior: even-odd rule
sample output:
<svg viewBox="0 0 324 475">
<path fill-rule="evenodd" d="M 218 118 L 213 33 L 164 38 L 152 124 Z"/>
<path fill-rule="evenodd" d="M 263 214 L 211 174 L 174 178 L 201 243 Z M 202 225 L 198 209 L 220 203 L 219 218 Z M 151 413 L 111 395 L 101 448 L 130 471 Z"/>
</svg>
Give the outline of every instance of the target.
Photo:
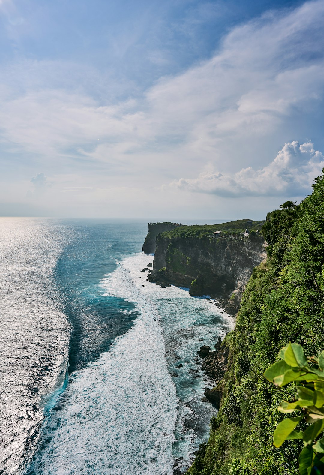
<svg viewBox="0 0 324 475">
<path fill-rule="evenodd" d="M 253 268 L 266 258 L 261 236 L 169 237 L 159 235 L 151 280 L 213 295 L 235 314 Z"/>
</svg>

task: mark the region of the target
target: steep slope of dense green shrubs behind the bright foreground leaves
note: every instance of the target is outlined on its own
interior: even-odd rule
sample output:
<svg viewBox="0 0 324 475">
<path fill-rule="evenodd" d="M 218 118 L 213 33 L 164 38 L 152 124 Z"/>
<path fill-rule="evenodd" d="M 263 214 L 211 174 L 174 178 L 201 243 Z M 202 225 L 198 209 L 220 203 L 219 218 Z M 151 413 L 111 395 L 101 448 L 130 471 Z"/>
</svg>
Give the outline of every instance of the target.
<svg viewBox="0 0 324 475">
<path fill-rule="evenodd" d="M 298 474 L 303 442 L 273 446 L 284 394 L 263 374 L 289 342 L 300 344 L 308 357 L 324 348 L 323 173 L 313 188 L 300 205 L 267 215 L 267 262 L 255 268 L 236 330 L 222 343 L 229 349 L 228 371 L 219 383 L 223 399 L 190 475 Z M 285 391 L 293 388 L 290 383 Z"/>
</svg>

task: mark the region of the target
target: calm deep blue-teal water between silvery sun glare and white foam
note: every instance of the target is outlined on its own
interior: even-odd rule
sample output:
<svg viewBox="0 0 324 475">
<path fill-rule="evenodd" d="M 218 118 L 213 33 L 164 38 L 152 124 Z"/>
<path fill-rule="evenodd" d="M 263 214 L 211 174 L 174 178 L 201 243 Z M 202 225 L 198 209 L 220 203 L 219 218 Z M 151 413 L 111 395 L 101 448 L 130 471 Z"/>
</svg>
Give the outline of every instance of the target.
<svg viewBox="0 0 324 475">
<path fill-rule="evenodd" d="M 123 298 L 104 297 L 100 281 L 116 269 L 116 259 L 141 250 L 147 224 L 103 220 L 66 224 L 73 228 L 74 238 L 58 258 L 54 277 L 72 326 L 68 368 L 72 373 L 108 351 L 138 315 Z"/>
</svg>

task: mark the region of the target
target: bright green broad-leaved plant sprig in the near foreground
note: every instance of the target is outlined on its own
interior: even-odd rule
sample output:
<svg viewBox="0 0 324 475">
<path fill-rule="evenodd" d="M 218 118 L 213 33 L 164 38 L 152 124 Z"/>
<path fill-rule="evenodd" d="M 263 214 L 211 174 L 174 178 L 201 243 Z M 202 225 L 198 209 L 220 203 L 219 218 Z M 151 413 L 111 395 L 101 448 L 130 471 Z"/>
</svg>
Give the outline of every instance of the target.
<svg viewBox="0 0 324 475">
<path fill-rule="evenodd" d="M 280 388 L 295 383 L 294 392 L 286 392 L 286 399 L 290 400 L 283 400 L 278 410 L 283 414 L 297 411 L 299 415 L 285 418 L 277 425 L 273 445 L 281 447 L 286 440 L 302 440 L 299 473 L 323 474 L 324 438 L 316 439 L 324 429 L 324 351 L 318 358 L 305 358 L 300 345 L 289 343 L 278 356 L 281 361 L 270 366 L 264 376 Z M 305 426 L 305 430 L 295 430 L 297 426 Z"/>
</svg>

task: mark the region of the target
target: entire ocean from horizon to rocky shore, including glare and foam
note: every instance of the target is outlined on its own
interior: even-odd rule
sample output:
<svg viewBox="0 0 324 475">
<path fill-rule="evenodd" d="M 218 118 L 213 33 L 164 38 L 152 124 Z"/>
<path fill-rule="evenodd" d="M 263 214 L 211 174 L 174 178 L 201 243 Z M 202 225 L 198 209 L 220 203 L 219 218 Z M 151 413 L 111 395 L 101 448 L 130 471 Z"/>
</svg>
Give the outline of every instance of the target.
<svg viewBox="0 0 324 475">
<path fill-rule="evenodd" d="M 146 223 L 0 224 L 0 473 L 184 470 L 216 413 L 196 352 L 233 319 L 146 280 Z"/>
</svg>

